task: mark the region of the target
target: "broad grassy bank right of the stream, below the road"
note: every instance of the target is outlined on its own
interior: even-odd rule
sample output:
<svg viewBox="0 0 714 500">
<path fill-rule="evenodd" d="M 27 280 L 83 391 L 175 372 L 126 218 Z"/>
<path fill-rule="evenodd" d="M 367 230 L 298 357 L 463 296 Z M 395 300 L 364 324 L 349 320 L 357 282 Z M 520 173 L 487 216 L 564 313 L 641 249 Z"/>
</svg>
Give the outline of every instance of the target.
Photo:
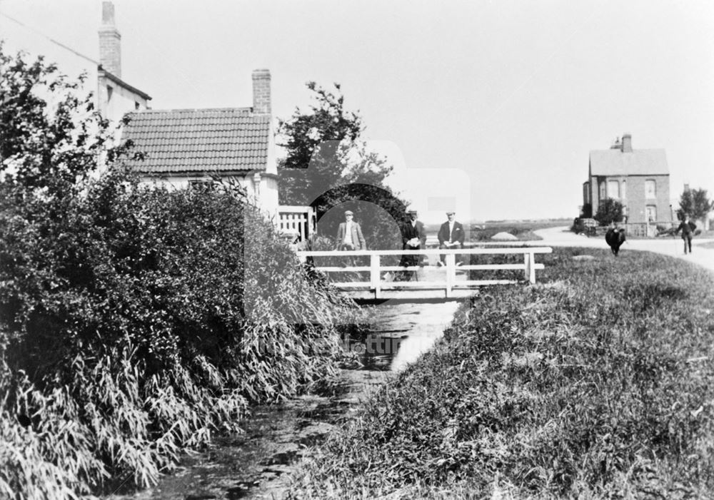
<svg viewBox="0 0 714 500">
<path fill-rule="evenodd" d="M 294 498 L 711 498 L 714 277 L 643 252 L 494 287 L 308 461 Z"/>
</svg>

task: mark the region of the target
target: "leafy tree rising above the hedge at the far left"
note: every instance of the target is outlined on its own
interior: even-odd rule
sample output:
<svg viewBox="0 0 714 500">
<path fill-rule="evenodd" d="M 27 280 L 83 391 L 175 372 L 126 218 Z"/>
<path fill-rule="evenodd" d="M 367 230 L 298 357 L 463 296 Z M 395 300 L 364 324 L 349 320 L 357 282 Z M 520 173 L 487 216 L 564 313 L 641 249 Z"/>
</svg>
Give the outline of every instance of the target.
<svg viewBox="0 0 714 500">
<path fill-rule="evenodd" d="M 120 148 L 106 149 L 109 123 L 91 94 L 79 95 L 86 75 L 71 81 L 41 56 L 27 62 L 2 49 L 0 41 L 0 175 L 7 185 L 66 195 L 100 153 L 114 158 Z"/>
</svg>

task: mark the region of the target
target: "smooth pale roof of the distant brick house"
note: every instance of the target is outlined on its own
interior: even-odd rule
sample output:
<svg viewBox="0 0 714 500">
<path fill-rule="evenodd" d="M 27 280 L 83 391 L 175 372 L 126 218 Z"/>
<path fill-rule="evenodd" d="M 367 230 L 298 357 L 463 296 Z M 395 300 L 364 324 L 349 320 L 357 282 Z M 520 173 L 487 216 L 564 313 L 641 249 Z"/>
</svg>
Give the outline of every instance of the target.
<svg viewBox="0 0 714 500">
<path fill-rule="evenodd" d="M 663 149 L 619 149 L 590 151 L 590 175 L 667 175 L 667 155 Z"/>
</svg>

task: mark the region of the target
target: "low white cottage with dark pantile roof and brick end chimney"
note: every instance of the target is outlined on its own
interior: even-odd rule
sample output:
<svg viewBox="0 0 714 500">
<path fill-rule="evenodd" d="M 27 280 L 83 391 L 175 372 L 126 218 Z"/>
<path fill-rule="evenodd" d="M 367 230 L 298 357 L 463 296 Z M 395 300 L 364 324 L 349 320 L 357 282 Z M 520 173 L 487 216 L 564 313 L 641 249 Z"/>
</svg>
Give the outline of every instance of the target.
<svg viewBox="0 0 714 500">
<path fill-rule="evenodd" d="M 186 188 L 233 178 L 266 215 L 278 213 L 278 175 L 271 116 L 271 75 L 253 71 L 253 106 L 149 110 L 129 113 L 122 140 L 144 160 L 129 167 L 143 180 Z"/>
</svg>

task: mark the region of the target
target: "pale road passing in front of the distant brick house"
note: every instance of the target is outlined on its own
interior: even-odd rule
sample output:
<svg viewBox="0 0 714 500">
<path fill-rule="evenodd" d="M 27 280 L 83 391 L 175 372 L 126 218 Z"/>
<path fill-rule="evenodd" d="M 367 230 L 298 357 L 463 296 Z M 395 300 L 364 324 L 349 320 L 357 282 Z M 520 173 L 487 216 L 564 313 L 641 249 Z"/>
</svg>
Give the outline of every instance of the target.
<svg viewBox="0 0 714 500">
<path fill-rule="evenodd" d="M 545 245 L 550 247 L 583 247 L 583 248 L 604 248 L 607 249 L 608 244 L 605 243 L 603 236 L 597 238 L 588 238 L 584 235 L 576 235 L 567 227 L 547 228 L 535 230 L 534 233 L 543 240 L 526 242 L 528 245 Z M 692 252 L 685 255 L 683 251 L 682 238 L 665 236 L 653 240 L 625 240 L 625 244 L 620 248 L 620 251 L 627 250 L 644 250 L 647 252 L 660 253 L 677 257 L 688 262 L 705 267 L 714 272 L 714 249 L 702 248 L 701 243 L 714 241 L 712 238 L 694 238 L 692 240 Z"/>
</svg>

